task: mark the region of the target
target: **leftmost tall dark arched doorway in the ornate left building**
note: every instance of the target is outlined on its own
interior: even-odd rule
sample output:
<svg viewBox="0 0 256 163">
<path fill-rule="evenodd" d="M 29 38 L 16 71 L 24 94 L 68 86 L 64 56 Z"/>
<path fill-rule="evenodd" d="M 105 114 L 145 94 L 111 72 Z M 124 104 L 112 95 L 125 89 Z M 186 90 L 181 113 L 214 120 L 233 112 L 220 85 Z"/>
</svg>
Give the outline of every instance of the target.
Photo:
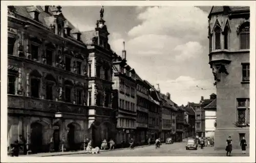
<svg viewBox="0 0 256 163">
<path fill-rule="evenodd" d="M 38 122 L 31 124 L 31 151 L 42 152 L 42 125 Z"/>
</svg>

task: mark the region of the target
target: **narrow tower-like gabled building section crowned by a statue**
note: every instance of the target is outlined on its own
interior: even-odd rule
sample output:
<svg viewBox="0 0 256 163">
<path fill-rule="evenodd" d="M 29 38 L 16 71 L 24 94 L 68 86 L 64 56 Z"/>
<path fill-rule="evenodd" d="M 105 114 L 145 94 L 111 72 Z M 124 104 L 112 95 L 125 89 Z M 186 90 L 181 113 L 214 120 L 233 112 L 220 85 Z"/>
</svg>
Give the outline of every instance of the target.
<svg viewBox="0 0 256 163">
<path fill-rule="evenodd" d="M 81 32 L 81 40 L 87 45 L 88 58 L 88 106 L 90 138 L 94 146 L 103 139 L 114 139 L 116 126 L 112 108 L 112 73 L 114 52 L 111 50 L 110 35 L 103 20 L 103 7 L 93 31 Z M 80 36 L 79 36 L 80 37 Z"/>
</svg>

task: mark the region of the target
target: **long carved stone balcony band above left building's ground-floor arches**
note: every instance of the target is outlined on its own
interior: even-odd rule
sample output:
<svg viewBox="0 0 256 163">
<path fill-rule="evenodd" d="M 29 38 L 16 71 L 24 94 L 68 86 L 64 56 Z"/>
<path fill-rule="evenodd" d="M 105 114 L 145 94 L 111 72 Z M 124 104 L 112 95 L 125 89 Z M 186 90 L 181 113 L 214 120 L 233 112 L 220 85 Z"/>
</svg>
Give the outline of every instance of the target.
<svg viewBox="0 0 256 163">
<path fill-rule="evenodd" d="M 25 111 L 33 109 L 50 113 L 62 112 L 88 115 L 88 106 L 17 95 L 8 95 L 8 107 L 17 110 L 22 108 Z"/>
</svg>

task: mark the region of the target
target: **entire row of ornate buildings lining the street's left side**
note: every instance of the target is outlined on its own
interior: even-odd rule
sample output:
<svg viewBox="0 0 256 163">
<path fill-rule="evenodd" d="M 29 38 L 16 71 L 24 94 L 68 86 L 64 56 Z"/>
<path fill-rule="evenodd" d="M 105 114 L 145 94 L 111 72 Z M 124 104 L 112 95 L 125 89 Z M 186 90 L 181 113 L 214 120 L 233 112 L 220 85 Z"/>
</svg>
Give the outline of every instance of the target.
<svg viewBox="0 0 256 163">
<path fill-rule="evenodd" d="M 80 32 L 60 6 L 8 6 L 8 147 L 18 140 L 38 153 L 50 143 L 76 150 L 87 139 L 100 146 L 194 134 L 192 107 L 141 79 L 125 49 L 111 49 L 103 12 L 95 30 Z"/>
</svg>

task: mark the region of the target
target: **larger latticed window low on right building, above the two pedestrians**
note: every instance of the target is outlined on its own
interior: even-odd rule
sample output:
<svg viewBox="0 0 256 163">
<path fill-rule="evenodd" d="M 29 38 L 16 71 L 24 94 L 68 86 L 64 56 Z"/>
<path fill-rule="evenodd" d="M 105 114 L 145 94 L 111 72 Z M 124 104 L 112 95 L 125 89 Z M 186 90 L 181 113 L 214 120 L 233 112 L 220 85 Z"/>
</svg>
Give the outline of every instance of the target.
<svg viewBox="0 0 256 163">
<path fill-rule="evenodd" d="M 238 125 L 246 125 L 249 124 L 249 99 L 240 98 L 237 99 L 237 123 Z"/>
</svg>

